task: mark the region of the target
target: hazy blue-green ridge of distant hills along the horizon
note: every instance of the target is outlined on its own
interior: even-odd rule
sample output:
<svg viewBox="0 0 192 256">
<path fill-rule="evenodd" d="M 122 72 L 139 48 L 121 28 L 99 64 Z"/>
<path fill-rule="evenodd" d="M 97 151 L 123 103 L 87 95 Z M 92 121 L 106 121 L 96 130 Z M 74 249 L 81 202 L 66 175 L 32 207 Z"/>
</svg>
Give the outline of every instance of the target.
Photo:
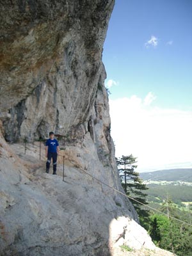
<svg viewBox="0 0 192 256">
<path fill-rule="evenodd" d="M 161 170 L 156 172 L 143 172 L 140 173 L 143 180 L 166 180 L 177 181 L 182 180 L 185 182 L 192 182 L 192 168 L 191 169 L 172 169 Z"/>
</svg>

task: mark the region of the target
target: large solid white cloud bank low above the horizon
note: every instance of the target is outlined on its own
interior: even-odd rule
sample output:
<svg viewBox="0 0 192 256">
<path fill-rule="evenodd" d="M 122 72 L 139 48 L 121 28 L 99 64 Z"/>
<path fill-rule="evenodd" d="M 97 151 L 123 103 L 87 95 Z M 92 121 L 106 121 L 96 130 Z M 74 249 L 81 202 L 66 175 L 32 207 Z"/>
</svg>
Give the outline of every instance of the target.
<svg viewBox="0 0 192 256">
<path fill-rule="evenodd" d="M 192 167 L 192 112 L 157 108 L 154 100 L 152 93 L 109 100 L 116 157 L 138 157 L 138 171 Z"/>
</svg>

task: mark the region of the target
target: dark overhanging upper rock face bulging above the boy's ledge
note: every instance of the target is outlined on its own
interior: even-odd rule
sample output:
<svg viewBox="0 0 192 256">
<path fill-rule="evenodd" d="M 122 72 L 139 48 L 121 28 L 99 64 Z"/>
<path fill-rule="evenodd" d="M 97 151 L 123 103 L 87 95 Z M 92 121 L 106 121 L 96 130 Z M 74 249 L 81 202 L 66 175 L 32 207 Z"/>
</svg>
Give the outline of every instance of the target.
<svg viewBox="0 0 192 256">
<path fill-rule="evenodd" d="M 6 140 L 45 138 L 50 129 L 67 134 L 88 121 L 103 83 L 102 45 L 114 1 L 5 2 L 0 109 L 11 116 L 4 121 Z"/>
</svg>

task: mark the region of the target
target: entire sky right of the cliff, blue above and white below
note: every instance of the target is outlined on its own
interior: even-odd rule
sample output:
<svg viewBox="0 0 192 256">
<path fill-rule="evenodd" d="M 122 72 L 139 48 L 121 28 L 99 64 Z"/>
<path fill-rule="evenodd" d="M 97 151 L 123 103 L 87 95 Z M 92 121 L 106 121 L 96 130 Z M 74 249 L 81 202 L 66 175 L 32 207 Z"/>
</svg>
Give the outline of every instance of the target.
<svg viewBox="0 0 192 256">
<path fill-rule="evenodd" d="M 192 1 L 116 0 L 102 60 L 116 157 L 192 168 Z"/>
</svg>

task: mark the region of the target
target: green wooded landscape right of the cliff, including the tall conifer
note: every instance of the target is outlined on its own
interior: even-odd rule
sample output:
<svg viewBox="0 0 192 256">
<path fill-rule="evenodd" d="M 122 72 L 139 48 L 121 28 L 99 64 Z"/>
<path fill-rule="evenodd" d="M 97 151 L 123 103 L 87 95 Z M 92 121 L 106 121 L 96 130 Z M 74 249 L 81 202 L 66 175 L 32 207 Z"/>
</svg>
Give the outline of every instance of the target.
<svg viewBox="0 0 192 256">
<path fill-rule="evenodd" d="M 152 241 L 178 256 L 192 256 L 192 169 L 145 173 L 146 176 L 141 173 L 141 177 L 150 179 L 150 184 L 143 184 L 139 173 L 134 171 L 137 167 L 136 157 L 122 156 L 116 161 L 126 194 L 142 203 L 147 198 L 150 207 L 162 212 L 148 211 L 147 205 L 136 204 L 131 200 L 141 225 L 148 231 Z M 184 184 L 180 184 L 179 180 Z"/>
</svg>

